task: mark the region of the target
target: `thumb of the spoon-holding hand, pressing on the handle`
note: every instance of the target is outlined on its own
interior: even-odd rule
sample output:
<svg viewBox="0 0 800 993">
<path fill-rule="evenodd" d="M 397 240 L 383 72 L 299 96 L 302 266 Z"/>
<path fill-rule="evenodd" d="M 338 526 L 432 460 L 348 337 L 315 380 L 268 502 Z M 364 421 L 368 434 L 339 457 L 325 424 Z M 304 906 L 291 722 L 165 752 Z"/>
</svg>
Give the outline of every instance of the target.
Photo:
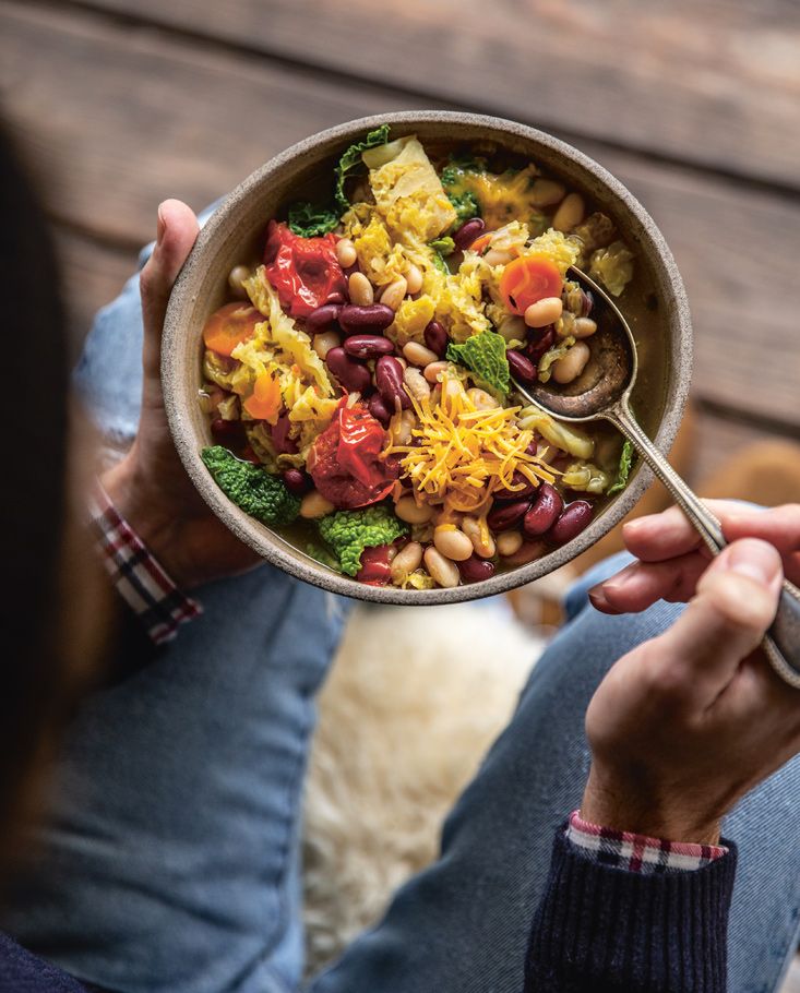
<svg viewBox="0 0 800 993">
<path fill-rule="evenodd" d="M 681 682 L 706 704 L 757 648 L 775 618 L 781 582 L 780 555 L 772 545 L 735 541 L 712 562 L 694 599 L 658 639 L 666 663 L 682 670 Z"/>
</svg>

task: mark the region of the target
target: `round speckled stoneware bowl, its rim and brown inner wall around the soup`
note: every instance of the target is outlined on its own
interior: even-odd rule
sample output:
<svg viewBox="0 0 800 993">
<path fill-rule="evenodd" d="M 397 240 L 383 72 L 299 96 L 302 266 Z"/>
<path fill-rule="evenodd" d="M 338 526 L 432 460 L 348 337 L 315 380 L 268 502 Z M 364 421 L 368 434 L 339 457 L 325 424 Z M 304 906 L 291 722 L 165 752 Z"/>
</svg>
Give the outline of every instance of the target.
<svg viewBox="0 0 800 993">
<path fill-rule="evenodd" d="M 330 189 L 331 168 L 351 142 L 381 123 L 392 137 L 416 133 L 427 142 L 494 142 L 523 153 L 583 192 L 609 214 L 636 253 L 636 275 L 621 306 L 640 349 L 640 379 L 633 407 L 666 454 L 674 440 L 689 388 L 692 332 L 683 284 L 667 244 L 644 207 L 596 161 L 564 142 L 514 121 L 474 113 L 407 111 L 349 121 L 306 139 L 248 177 L 222 203 L 200 232 L 172 291 L 164 328 L 163 382 L 175 443 L 198 490 L 222 521 L 263 558 L 292 576 L 336 594 L 381 603 L 453 603 L 504 593 L 552 572 L 585 551 L 636 503 L 652 481 L 640 460 L 628 487 L 573 541 L 527 565 L 455 589 L 402 590 L 366 586 L 310 559 L 286 539 L 249 517 L 217 488 L 200 458 L 212 444 L 198 403 L 201 331 L 226 299 L 230 268 L 254 259 L 266 222 L 288 201 Z"/>
</svg>

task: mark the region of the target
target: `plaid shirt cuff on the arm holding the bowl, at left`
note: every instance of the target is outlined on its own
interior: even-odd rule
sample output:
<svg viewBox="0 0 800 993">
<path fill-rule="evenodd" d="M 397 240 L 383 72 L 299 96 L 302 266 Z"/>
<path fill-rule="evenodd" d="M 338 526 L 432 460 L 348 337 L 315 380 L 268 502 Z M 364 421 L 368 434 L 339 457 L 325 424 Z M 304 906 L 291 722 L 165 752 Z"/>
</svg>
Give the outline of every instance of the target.
<svg viewBox="0 0 800 993">
<path fill-rule="evenodd" d="M 89 498 L 88 512 L 100 558 L 117 591 L 157 645 L 170 641 L 184 621 L 202 613 L 202 607 L 178 589 L 99 482 Z"/>
</svg>

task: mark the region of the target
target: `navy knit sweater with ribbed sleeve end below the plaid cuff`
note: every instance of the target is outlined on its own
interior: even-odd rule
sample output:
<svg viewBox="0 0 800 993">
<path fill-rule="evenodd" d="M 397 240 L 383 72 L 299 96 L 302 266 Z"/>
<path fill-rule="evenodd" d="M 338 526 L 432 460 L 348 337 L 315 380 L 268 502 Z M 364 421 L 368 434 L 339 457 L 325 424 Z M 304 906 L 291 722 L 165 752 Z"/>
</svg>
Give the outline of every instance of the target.
<svg viewBox="0 0 800 993">
<path fill-rule="evenodd" d="M 735 873 L 733 846 L 694 872 L 640 875 L 593 861 L 560 829 L 525 993 L 725 993 Z M 0 993 L 92 989 L 0 935 Z"/>
</svg>

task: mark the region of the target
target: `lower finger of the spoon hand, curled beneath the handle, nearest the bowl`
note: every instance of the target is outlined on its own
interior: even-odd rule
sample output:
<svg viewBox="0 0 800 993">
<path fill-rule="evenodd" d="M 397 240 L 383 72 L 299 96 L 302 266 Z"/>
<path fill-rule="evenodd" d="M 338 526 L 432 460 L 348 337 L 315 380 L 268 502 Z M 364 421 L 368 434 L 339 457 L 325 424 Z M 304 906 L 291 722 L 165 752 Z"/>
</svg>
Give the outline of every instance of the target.
<svg viewBox="0 0 800 993">
<path fill-rule="evenodd" d="M 695 593 L 708 560 L 689 552 L 665 562 L 633 562 L 589 590 L 589 600 L 604 613 L 638 613 L 657 600 L 685 603 Z"/>
</svg>

